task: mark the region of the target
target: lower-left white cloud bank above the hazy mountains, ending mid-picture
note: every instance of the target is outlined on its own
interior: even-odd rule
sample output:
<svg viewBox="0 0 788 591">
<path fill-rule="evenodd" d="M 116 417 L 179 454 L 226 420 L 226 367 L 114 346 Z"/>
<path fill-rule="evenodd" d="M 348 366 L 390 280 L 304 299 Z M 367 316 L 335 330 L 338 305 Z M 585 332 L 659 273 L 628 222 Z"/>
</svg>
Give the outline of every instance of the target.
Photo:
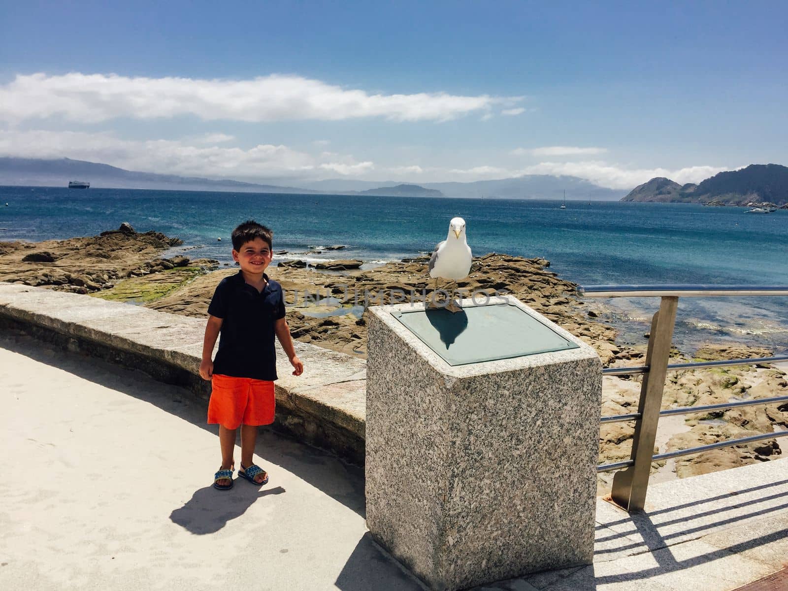
<svg viewBox="0 0 788 591">
<path fill-rule="evenodd" d="M 307 154 L 282 145 L 259 144 L 244 150 L 188 140 L 137 141 L 86 132 L 0 130 L 0 156 L 73 158 L 190 177 L 325 176 L 319 170 L 357 175 L 374 167 L 372 162 L 357 163 L 351 156 Z"/>
</svg>

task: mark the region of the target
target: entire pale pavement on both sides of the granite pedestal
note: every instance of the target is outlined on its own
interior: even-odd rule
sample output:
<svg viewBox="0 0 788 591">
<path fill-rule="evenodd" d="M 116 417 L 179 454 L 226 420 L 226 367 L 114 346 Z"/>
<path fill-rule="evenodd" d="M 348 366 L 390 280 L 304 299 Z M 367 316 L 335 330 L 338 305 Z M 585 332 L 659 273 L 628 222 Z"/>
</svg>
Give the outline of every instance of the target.
<svg viewBox="0 0 788 591">
<path fill-rule="evenodd" d="M 370 541 L 362 470 L 265 433 L 269 485 L 220 492 L 179 388 L 9 335 L 0 384 L 0 589 L 422 589 Z M 600 501 L 597 521 L 593 566 L 485 589 L 756 581 L 788 560 L 788 461 L 654 485 L 634 518 Z"/>
</svg>

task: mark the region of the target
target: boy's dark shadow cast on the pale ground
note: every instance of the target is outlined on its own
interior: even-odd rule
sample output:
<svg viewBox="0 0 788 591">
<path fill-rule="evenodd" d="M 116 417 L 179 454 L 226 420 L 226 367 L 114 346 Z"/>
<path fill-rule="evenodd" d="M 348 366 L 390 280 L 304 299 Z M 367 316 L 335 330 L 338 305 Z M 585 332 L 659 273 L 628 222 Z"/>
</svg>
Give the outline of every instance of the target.
<svg viewBox="0 0 788 591">
<path fill-rule="evenodd" d="M 183 507 L 169 514 L 169 519 L 191 533 L 216 533 L 230 519 L 243 515 L 261 496 L 285 492 L 281 486 L 258 490 L 244 484 L 238 483 L 230 490 L 217 490 L 213 486 L 197 489 Z"/>
</svg>

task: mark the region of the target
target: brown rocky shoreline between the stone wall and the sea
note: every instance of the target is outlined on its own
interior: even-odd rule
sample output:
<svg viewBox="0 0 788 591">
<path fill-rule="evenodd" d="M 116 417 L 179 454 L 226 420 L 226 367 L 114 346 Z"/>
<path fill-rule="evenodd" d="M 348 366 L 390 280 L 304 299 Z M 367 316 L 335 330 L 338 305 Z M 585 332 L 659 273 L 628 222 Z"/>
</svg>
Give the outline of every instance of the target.
<svg viewBox="0 0 788 591">
<path fill-rule="evenodd" d="M 99 236 L 0 243 L 0 281 L 22 283 L 139 303 L 155 310 L 204 318 L 214 288 L 236 269 L 218 269 L 210 259 L 162 258 L 180 244 L 159 232 L 136 232 L 128 225 Z M 288 303 L 288 323 L 297 340 L 366 357 L 365 304 L 392 303 L 420 296 L 431 282 L 426 257 L 360 269 L 360 261 L 333 261 L 325 269 L 288 262 L 269 269 L 280 281 Z M 506 292 L 582 338 L 605 366 L 641 365 L 645 344 L 616 343 L 615 329 L 595 318 L 600 304 L 574 294 L 575 285 L 549 270 L 541 258 L 490 253 L 474 258 L 466 293 Z M 218 269 L 218 270 L 216 270 Z M 709 344 L 698 351 L 673 351 L 675 360 L 764 357 L 771 351 Z M 604 377 L 601 414 L 637 409 L 639 377 Z M 663 408 L 723 403 L 788 395 L 786 374 L 770 366 L 741 366 L 674 372 L 668 375 Z M 687 414 L 660 422 L 659 452 L 714 443 L 753 433 L 788 428 L 788 403 L 718 413 Z M 600 428 L 600 462 L 627 459 L 631 423 Z M 654 478 L 683 478 L 780 457 L 780 440 L 723 448 L 652 466 Z M 783 440 L 784 441 L 784 440 Z M 600 474 L 599 492 L 609 489 L 611 473 Z"/>
</svg>

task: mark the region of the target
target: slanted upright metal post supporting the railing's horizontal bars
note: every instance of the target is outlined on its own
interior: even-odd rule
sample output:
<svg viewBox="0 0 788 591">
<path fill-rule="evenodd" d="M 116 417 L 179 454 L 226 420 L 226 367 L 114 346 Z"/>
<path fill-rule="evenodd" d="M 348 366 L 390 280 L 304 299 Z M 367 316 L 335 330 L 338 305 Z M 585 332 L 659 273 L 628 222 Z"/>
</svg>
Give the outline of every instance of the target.
<svg viewBox="0 0 788 591">
<path fill-rule="evenodd" d="M 612 499 L 630 512 L 643 511 L 645 506 L 677 307 L 678 297 L 665 296 L 660 303 L 660 311 L 652 319 L 649 351 L 645 358 L 649 371 L 643 375 L 640 402 L 637 404 L 641 418 L 637 419 L 632 438 L 630 459 L 634 464 L 613 477 Z"/>
</svg>

